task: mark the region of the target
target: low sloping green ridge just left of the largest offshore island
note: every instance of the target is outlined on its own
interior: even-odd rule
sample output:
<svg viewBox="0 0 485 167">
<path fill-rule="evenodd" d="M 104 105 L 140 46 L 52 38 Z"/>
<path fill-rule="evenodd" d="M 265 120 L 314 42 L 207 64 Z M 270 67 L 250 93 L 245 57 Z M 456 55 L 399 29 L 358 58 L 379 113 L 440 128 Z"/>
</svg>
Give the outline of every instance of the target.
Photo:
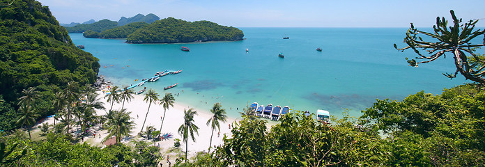
<svg viewBox="0 0 485 167">
<path fill-rule="evenodd" d="M 102 31 L 101 33 L 93 31 L 98 33 L 98 36 L 95 36 L 95 33 L 88 33 L 88 31 L 84 32 L 83 35 L 86 38 L 126 38 L 137 29 L 143 29 L 146 26 L 148 26 L 148 23 L 146 22 L 135 22 L 126 24 L 124 26 L 118 26 L 114 29 Z"/>
</svg>

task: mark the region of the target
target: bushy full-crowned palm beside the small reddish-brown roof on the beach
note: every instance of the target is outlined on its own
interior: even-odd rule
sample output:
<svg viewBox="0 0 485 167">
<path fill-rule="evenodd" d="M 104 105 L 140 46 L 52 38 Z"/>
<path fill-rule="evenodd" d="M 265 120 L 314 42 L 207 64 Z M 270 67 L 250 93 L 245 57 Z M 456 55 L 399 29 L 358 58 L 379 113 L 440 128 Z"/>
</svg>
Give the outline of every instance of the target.
<svg viewBox="0 0 485 167">
<path fill-rule="evenodd" d="M 107 141 L 112 136 L 116 136 L 116 143 L 119 143 L 121 136 L 130 135 L 131 129 L 134 127 L 134 122 L 130 120 L 130 113 L 125 109 L 113 111 L 107 122 L 109 134 L 103 138 L 102 142 Z"/>
</svg>

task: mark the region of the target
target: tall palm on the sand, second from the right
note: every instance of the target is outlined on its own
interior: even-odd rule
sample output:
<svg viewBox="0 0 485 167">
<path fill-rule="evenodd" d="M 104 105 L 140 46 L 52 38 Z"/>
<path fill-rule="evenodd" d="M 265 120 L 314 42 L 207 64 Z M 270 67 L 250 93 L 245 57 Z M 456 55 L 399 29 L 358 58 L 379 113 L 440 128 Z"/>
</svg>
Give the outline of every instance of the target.
<svg viewBox="0 0 485 167">
<path fill-rule="evenodd" d="M 185 143 L 185 162 L 187 162 L 187 152 L 188 152 L 188 138 L 189 133 L 190 137 L 192 137 L 192 141 L 195 142 L 194 132 L 199 135 L 199 127 L 194 124 L 194 116 L 197 115 L 197 111 L 192 111 L 192 109 L 183 110 L 183 124 L 178 127 L 178 133 L 183 138 L 183 142 Z"/>
</svg>

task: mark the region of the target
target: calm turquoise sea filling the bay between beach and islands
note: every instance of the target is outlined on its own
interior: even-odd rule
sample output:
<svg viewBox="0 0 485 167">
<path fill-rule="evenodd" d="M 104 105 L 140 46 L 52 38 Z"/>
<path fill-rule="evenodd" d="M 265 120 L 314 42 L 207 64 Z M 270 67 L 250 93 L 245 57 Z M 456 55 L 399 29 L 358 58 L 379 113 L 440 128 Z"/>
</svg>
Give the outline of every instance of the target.
<svg viewBox="0 0 485 167">
<path fill-rule="evenodd" d="M 183 70 L 144 86 L 160 95 L 178 94 L 176 102 L 206 111 L 221 102 L 230 116 L 239 116 L 252 102 L 311 112 L 325 109 L 337 117 L 349 109 L 351 116 L 360 116 L 376 98 L 403 100 L 421 90 L 440 94 L 465 82 L 461 75 L 452 80 L 442 75 L 454 72 L 452 55 L 409 67 L 404 58 L 414 58 L 414 52 L 392 46 L 404 46 L 406 28 L 240 29 L 247 39 L 236 42 L 135 45 L 81 33 L 70 37 L 100 59 L 100 74 L 115 85 L 130 86 L 157 71 Z"/>
</svg>

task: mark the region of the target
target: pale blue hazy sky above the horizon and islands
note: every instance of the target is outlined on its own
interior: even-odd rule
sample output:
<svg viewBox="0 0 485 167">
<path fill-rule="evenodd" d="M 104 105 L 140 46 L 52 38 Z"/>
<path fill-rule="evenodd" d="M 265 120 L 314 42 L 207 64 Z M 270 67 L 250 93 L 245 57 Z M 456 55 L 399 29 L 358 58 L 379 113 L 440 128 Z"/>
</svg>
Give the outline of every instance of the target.
<svg viewBox="0 0 485 167">
<path fill-rule="evenodd" d="M 138 13 L 235 27 L 431 27 L 436 17 L 481 19 L 484 0 L 39 0 L 59 23 L 118 21 Z"/>
</svg>

